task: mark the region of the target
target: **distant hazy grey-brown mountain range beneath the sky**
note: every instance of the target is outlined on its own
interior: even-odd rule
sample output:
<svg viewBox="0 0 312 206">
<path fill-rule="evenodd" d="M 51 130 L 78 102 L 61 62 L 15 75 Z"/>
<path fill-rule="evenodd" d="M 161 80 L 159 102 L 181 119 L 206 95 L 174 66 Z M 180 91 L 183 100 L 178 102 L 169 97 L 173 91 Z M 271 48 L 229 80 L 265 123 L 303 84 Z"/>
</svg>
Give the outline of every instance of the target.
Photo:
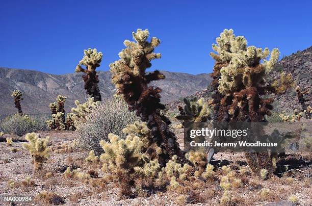
<svg viewBox="0 0 312 206">
<path fill-rule="evenodd" d="M 209 74 L 192 75 L 187 73 L 163 71 L 166 79 L 155 82 L 162 88 L 162 100 L 169 102 L 179 97 L 189 96 L 210 84 Z M 115 87 L 111 83 L 109 71 L 99 71 L 99 87 L 102 98 L 114 94 Z M 81 73 L 55 75 L 34 70 L 10 69 L 0 67 L 0 115 L 14 114 L 12 91 L 23 92 L 22 109 L 27 114 L 48 114 L 48 104 L 55 101 L 58 94 L 68 97 L 66 111 L 74 106 L 74 100 L 86 101 L 88 96 L 83 89 Z"/>
</svg>

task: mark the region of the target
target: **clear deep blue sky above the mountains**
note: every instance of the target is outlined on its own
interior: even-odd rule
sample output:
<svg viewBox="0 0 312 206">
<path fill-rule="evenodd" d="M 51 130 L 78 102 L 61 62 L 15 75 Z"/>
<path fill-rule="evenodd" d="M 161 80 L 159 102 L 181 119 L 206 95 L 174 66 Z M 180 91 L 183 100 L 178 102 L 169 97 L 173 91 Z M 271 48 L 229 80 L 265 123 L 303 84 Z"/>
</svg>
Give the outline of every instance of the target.
<svg viewBox="0 0 312 206">
<path fill-rule="evenodd" d="M 108 70 L 136 29 L 161 39 L 152 69 L 208 73 L 223 29 L 281 57 L 312 45 L 312 1 L 1 1 L 0 66 L 72 73 L 83 49 L 103 53 Z"/>
</svg>

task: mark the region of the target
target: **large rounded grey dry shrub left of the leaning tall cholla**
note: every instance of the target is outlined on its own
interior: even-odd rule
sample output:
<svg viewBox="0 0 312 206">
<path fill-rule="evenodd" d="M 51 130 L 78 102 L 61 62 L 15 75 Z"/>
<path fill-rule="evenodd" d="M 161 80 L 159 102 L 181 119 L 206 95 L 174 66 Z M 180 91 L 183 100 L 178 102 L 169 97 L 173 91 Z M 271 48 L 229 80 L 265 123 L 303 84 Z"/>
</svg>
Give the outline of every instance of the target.
<svg viewBox="0 0 312 206">
<path fill-rule="evenodd" d="M 139 121 L 139 117 L 134 112 L 129 112 L 127 104 L 120 98 L 102 101 L 86 118 L 81 125 L 76 125 L 76 141 L 88 151 L 94 150 L 96 155 L 103 152 L 100 140 L 109 141 L 110 133 L 125 139 L 126 134 L 122 133 L 122 129 L 127 124 Z"/>
</svg>

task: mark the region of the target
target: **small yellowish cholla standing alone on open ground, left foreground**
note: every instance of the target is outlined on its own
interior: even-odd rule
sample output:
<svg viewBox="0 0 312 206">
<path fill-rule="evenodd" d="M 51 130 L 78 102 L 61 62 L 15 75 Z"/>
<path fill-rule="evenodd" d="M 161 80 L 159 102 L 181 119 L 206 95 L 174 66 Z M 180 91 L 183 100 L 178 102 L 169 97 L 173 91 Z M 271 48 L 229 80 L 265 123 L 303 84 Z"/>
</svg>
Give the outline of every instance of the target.
<svg viewBox="0 0 312 206">
<path fill-rule="evenodd" d="M 25 139 L 29 143 L 24 143 L 23 147 L 31 153 L 34 159 L 35 172 L 39 172 L 43 168 L 43 162 L 49 157 L 49 148 L 47 147 L 49 137 L 42 139 L 36 133 L 28 133 Z"/>
</svg>

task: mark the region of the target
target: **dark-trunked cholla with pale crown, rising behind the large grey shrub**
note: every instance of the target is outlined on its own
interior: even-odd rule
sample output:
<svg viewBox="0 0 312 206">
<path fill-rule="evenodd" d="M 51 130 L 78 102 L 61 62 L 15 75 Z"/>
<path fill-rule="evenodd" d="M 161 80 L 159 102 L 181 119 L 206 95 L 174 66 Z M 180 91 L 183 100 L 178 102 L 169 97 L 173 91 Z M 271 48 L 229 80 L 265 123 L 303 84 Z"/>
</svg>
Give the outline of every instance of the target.
<svg viewBox="0 0 312 206">
<path fill-rule="evenodd" d="M 103 54 L 97 52 L 96 48 L 84 50 L 85 56 L 76 66 L 75 72 L 84 72 L 83 80 L 85 82 L 85 90 L 87 94 L 94 97 L 95 101 L 101 101 L 101 94 L 98 88 L 98 75 L 96 74 L 96 67 L 99 67 L 99 63 L 102 61 Z M 82 68 L 80 65 L 84 65 L 87 69 Z"/>
</svg>

